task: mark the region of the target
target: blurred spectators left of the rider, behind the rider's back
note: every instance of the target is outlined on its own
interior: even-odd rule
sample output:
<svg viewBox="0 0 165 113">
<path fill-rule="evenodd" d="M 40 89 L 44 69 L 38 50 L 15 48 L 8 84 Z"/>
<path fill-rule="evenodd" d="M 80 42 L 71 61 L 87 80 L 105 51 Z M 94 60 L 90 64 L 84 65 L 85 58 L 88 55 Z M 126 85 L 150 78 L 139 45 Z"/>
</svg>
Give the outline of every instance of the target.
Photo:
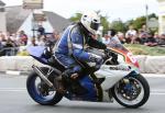
<svg viewBox="0 0 165 113">
<path fill-rule="evenodd" d="M 16 54 L 20 46 L 45 46 L 46 43 L 55 44 L 59 38 L 59 32 L 54 31 L 48 34 L 38 34 L 30 37 L 24 31 L 15 34 L 0 32 L 0 56 L 10 56 Z"/>
</svg>

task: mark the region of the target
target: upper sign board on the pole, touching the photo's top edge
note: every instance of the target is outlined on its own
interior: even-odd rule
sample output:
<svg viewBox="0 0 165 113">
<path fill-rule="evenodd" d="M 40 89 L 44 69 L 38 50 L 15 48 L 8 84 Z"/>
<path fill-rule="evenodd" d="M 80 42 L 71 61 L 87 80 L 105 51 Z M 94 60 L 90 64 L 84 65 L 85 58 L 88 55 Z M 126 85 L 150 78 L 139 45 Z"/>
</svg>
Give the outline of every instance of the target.
<svg viewBox="0 0 165 113">
<path fill-rule="evenodd" d="M 43 0 L 23 0 L 23 9 L 43 9 Z"/>
</svg>

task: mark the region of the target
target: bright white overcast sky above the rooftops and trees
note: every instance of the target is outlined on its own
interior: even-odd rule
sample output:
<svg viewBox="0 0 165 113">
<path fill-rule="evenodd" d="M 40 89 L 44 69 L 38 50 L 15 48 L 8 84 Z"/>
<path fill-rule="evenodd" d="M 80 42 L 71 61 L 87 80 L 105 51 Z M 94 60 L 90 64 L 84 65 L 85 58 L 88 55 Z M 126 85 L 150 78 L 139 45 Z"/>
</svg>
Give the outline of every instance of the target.
<svg viewBox="0 0 165 113">
<path fill-rule="evenodd" d="M 23 0 L 1 0 L 7 5 L 20 5 Z M 77 12 L 87 10 L 101 11 L 108 15 L 110 21 L 121 19 L 128 21 L 145 15 L 145 5 L 148 5 L 148 13 L 158 13 L 157 0 L 44 0 L 44 10 L 53 11 L 66 19 Z"/>
</svg>

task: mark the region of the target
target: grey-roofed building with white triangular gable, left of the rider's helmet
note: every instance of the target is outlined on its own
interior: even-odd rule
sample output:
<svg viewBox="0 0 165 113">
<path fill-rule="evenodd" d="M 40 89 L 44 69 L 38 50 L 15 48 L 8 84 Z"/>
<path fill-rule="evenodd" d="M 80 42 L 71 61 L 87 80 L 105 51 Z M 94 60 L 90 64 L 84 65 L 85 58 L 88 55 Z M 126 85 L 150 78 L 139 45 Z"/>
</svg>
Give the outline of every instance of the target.
<svg viewBox="0 0 165 113">
<path fill-rule="evenodd" d="M 31 10 L 25 10 L 22 5 L 4 7 L 0 1 L 0 31 L 16 33 L 23 30 L 29 36 L 33 35 L 33 30 L 37 30 L 37 25 L 42 24 L 46 33 L 52 33 L 54 30 L 63 32 L 70 24 L 70 21 L 50 11 L 43 11 L 45 21 L 33 22 L 34 13 Z M 36 34 L 36 32 L 34 32 Z"/>
</svg>

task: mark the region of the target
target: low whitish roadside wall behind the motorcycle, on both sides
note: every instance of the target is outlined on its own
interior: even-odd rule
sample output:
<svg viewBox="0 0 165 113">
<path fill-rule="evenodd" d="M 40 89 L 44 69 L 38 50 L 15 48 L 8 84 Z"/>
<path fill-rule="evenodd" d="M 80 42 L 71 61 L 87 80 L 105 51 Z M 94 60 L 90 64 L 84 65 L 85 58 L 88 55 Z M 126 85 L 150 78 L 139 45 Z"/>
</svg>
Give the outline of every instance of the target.
<svg viewBox="0 0 165 113">
<path fill-rule="evenodd" d="M 135 58 L 139 60 L 141 72 L 165 74 L 165 56 L 135 56 Z M 32 65 L 44 66 L 30 56 L 0 57 L 0 71 L 29 71 Z"/>
</svg>

